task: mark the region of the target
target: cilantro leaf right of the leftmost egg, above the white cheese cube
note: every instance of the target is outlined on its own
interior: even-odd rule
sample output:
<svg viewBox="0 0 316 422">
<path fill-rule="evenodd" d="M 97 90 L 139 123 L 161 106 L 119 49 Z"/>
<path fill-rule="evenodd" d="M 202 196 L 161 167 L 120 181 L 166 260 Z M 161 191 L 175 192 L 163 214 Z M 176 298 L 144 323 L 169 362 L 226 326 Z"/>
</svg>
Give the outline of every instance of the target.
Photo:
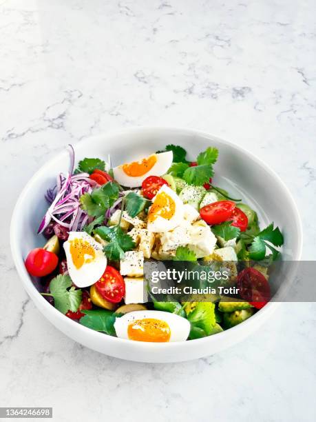
<svg viewBox="0 0 316 422">
<path fill-rule="evenodd" d="M 123 232 L 119 225 L 107 227 L 102 225 L 94 230 L 102 239 L 109 243 L 103 248 L 103 252 L 108 259 L 112 261 L 119 261 L 124 258 L 127 250 L 135 248 L 135 243 L 129 234 Z"/>
</svg>

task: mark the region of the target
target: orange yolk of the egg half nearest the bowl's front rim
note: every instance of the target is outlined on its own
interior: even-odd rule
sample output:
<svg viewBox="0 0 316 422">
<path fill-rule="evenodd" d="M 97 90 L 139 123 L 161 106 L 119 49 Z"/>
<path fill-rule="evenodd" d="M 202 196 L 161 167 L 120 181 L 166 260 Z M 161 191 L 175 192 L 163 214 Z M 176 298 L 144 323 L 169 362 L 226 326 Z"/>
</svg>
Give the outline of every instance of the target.
<svg viewBox="0 0 316 422">
<path fill-rule="evenodd" d="M 129 323 L 127 335 L 129 340 L 165 343 L 170 340 L 171 330 L 165 321 L 144 318 Z"/>
</svg>

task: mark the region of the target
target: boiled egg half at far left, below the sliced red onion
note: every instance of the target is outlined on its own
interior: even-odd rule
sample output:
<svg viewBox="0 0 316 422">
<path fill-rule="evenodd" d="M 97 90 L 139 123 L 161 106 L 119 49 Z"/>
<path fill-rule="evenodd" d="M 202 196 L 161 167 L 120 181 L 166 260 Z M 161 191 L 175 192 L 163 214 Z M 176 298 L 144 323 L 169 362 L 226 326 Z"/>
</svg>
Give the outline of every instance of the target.
<svg viewBox="0 0 316 422">
<path fill-rule="evenodd" d="M 86 232 L 70 232 L 63 248 L 70 278 L 78 288 L 96 283 L 105 272 L 103 246 Z"/>
</svg>

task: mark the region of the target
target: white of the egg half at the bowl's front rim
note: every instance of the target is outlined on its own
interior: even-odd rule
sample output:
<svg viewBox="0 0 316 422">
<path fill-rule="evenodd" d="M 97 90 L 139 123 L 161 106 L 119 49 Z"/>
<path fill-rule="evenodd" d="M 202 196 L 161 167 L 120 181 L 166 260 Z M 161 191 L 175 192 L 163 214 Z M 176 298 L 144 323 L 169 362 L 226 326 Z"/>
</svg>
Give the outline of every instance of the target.
<svg viewBox="0 0 316 422">
<path fill-rule="evenodd" d="M 114 328 L 116 336 L 120 339 L 128 339 L 127 328 L 129 323 L 138 319 L 154 318 L 165 321 L 170 328 L 170 342 L 186 341 L 190 332 L 190 323 L 182 316 L 158 310 L 133 311 L 116 318 Z"/>
</svg>

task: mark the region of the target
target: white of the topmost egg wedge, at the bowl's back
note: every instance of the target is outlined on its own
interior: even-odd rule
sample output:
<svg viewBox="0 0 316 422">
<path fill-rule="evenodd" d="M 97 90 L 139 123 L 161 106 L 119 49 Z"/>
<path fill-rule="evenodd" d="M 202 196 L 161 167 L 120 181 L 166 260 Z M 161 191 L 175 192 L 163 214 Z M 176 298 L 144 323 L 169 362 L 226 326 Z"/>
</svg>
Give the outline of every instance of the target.
<svg viewBox="0 0 316 422">
<path fill-rule="evenodd" d="M 156 154 L 156 158 L 156 163 L 148 172 L 143 174 L 143 176 L 129 176 L 124 172 L 123 165 L 118 165 L 118 167 L 114 167 L 113 169 L 114 179 L 120 183 L 120 185 L 127 186 L 127 188 L 138 188 L 147 177 L 161 176 L 162 174 L 167 173 L 167 170 L 169 170 L 172 164 L 173 153 L 172 151 L 159 152 Z"/>
</svg>

